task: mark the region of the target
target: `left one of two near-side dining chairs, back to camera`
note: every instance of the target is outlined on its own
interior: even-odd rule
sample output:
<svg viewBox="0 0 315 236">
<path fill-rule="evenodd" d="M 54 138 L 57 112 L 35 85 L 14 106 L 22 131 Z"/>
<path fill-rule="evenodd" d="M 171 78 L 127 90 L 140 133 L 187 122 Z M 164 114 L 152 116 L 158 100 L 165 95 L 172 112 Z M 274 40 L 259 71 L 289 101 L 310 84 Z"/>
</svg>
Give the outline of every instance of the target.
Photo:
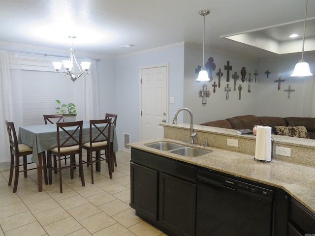
<svg viewBox="0 0 315 236">
<path fill-rule="evenodd" d="M 49 184 L 52 183 L 52 170 L 59 172 L 60 193 L 63 193 L 62 170 L 64 169 L 70 169 L 70 177 L 73 179 L 73 170 L 79 167 L 79 177 L 81 177 L 82 186 L 85 186 L 82 163 L 82 125 L 82 120 L 57 123 L 58 146 L 47 151 Z M 79 164 L 75 161 L 76 154 L 79 155 Z M 52 167 L 52 155 L 58 159 L 58 167 Z M 62 166 L 62 156 L 65 155 L 70 155 L 70 163 Z"/>
</svg>

